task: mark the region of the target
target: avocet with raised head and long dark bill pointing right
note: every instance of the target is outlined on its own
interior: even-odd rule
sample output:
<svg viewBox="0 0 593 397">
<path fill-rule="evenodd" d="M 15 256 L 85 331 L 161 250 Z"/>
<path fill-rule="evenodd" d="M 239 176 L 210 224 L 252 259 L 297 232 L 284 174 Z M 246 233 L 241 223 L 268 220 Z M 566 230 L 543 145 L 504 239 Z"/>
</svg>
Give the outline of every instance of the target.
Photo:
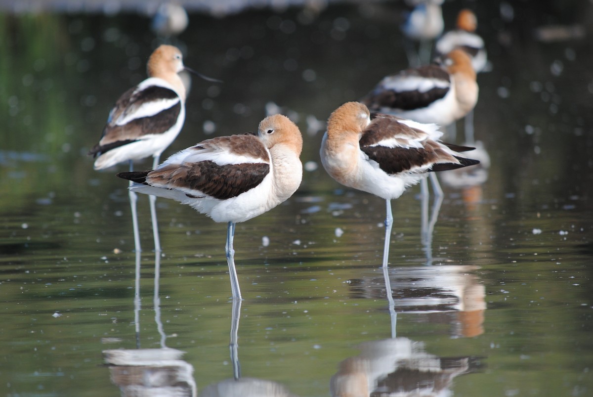
<svg viewBox="0 0 593 397">
<path fill-rule="evenodd" d="M 174 46 L 161 45 L 152 52 L 146 65 L 148 78 L 127 90 L 109 113 L 107 125 L 97 145 L 88 154 L 96 157 L 95 170 L 152 156 L 153 168 L 164 151 L 181 131 L 185 120 L 186 89 L 179 77 L 189 71 L 205 80 L 219 81 L 203 76 L 183 65 L 181 51 Z M 130 205 L 136 250 L 140 250 L 136 193 L 130 191 Z M 155 250 L 160 251 L 155 197 L 150 197 L 152 231 Z"/>
</svg>

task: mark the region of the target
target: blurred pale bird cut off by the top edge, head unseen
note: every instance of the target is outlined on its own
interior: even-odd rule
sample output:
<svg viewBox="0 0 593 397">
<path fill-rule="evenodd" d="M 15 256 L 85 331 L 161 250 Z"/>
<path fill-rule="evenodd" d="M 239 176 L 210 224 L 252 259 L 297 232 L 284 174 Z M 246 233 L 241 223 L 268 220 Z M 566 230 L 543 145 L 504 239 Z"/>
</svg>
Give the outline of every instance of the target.
<svg viewBox="0 0 593 397">
<path fill-rule="evenodd" d="M 416 52 L 412 42 L 404 42 L 408 63 L 412 67 L 423 65 L 431 59 L 432 40 L 441 36 L 445 27 L 441 9 L 443 1 L 406 1 L 414 9 L 407 15 L 401 31 L 407 39 L 420 43 L 419 50 Z"/>
</svg>

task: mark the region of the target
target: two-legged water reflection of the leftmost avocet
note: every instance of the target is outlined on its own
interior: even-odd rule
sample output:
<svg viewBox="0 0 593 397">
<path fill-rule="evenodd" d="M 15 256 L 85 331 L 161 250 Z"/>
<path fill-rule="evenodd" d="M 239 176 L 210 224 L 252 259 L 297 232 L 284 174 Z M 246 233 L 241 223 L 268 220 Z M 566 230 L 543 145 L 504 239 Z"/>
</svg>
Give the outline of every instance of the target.
<svg viewBox="0 0 593 397">
<path fill-rule="evenodd" d="M 136 251 L 136 280 L 134 317 L 136 349 L 104 350 L 103 357 L 109 367 L 111 382 L 119 386 L 122 396 L 196 396 L 193 366 L 182 359 L 184 352 L 168 348 L 161 322 L 159 297 L 160 252 L 155 252 L 154 312 L 160 334 L 160 348 L 140 347 L 140 261 L 141 252 Z"/>
</svg>

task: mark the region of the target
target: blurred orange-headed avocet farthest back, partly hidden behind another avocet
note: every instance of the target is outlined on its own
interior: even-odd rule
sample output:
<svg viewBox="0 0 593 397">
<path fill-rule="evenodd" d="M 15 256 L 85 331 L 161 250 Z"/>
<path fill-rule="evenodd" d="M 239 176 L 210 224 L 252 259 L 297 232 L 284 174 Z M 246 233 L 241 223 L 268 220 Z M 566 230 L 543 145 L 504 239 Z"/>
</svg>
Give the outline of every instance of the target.
<svg viewBox="0 0 593 397">
<path fill-rule="evenodd" d="M 471 58 L 471 66 L 476 73 L 482 72 L 486 68 L 488 56 L 484 40 L 476 34 L 477 18 L 469 9 L 462 9 L 457 15 L 457 28 L 448 31 L 436 42 L 437 55 L 444 55 L 455 48 L 464 50 Z M 465 116 L 464 133 L 466 143 L 474 142 L 473 109 Z"/>
</svg>

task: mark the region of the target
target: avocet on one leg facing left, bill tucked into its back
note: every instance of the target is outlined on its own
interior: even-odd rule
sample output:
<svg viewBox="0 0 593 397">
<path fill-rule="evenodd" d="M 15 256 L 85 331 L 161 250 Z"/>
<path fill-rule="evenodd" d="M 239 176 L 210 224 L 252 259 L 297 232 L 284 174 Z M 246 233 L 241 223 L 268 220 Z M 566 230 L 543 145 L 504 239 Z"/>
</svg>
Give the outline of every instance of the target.
<svg viewBox="0 0 593 397">
<path fill-rule="evenodd" d="M 342 185 L 379 196 L 387 202 L 383 266 L 387 266 L 393 215 L 391 199 L 426 177 L 429 171 L 473 166 L 479 161 L 459 151 L 471 150 L 439 142 L 434 124 L 369 113 L 347 102 L 331 113 L 321 142 L 321 163 Z"/>
</svg>

